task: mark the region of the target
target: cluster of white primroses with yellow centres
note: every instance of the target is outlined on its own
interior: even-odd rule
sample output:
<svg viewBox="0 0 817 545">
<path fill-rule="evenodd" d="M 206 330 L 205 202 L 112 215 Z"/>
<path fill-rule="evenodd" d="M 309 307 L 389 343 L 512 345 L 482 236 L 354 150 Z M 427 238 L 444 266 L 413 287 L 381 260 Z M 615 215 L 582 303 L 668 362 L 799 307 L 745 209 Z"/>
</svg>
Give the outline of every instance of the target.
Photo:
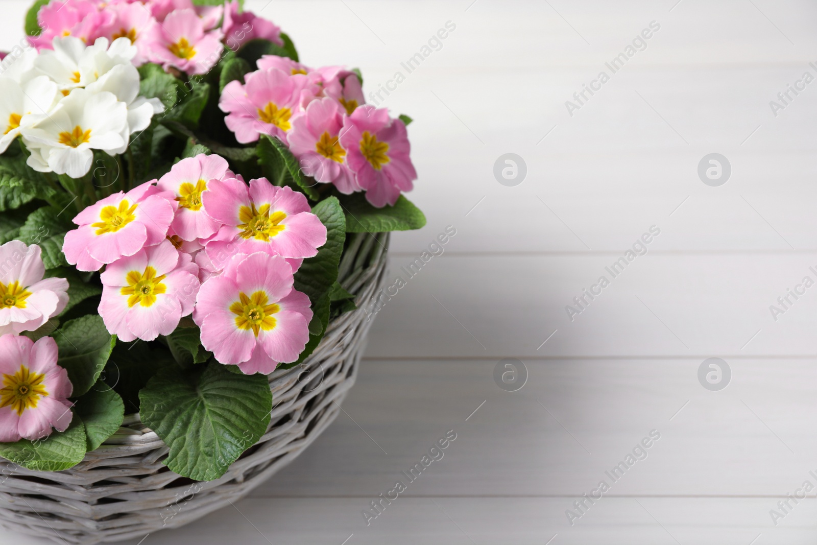
<svg viewBox="0 0 817 545">
<path fill-rule="evenodd" d="M 86 47 L 69 36 L 52 46 L 0 77 L 0 153 L 21 136 L 29 167 L 79 178 L 91 169 L 93 150 L 124 153 L 130 136 L 163 106 L 138 96 L 136 47 L 128 38 Z"/>
</svg>

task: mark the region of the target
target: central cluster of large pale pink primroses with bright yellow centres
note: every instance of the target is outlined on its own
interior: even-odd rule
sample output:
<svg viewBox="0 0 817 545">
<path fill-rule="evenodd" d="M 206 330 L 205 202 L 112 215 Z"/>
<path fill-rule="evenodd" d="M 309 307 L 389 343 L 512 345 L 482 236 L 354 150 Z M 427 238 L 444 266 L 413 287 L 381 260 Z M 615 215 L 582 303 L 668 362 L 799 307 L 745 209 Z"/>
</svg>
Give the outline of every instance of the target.
<svg viewBox="0 0 817 545">
<path fill-rule="evenodd" d="M 248 186 L 200 154 L 74 223 L 65 257 L 78 270 L 105 266 L 99 313 L 120 340 L 152 341 L 192 314 L 203 346 L 246 373 L 271 373 L 306 346 L 312 311 L 293 275 L 327 231 L 303 194 L 266 178 Z"/>
</svg>

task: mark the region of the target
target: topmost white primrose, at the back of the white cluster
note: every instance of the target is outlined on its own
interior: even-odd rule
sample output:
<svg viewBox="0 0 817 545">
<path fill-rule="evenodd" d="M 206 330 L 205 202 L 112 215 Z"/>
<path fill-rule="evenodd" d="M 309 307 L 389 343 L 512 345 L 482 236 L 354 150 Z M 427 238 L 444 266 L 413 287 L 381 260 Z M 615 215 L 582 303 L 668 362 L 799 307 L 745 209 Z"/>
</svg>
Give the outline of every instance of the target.
<svg viewBox="0 0 817 545">
<path fill-rule="evenodd" d="M 128 38 L 117 38 L 113 43 L 98 38 L 92 46 L 86 46 L 81 39 L 66 36 L 54 38 L 52 43 L 54 49 L 40 51 L 34 68 L 53 79 L 65 95 L 96 82 L 114 66 L 132 65 L 136 56 L 136 46 Z"/>
</svg>

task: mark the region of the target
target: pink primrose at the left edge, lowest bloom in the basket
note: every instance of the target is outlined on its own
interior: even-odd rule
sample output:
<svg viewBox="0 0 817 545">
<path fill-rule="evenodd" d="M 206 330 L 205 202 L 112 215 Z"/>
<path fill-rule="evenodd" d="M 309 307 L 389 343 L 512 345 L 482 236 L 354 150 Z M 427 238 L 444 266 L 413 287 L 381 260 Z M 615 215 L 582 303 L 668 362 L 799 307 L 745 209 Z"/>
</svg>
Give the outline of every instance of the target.
<svg viewBox="0 0 817 545">
<path fill-rule="evenodd" d="M 51 337 L 0 337 L 0 443 L 40 440 L 68 429 L 74 386 L 56 364 Z"/>
</svg>

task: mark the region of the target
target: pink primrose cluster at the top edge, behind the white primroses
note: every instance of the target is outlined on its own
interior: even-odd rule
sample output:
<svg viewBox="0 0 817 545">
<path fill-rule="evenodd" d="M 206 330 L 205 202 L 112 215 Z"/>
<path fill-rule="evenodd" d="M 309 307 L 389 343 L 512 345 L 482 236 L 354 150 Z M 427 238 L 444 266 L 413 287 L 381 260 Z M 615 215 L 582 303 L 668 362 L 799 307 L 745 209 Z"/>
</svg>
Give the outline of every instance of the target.
<svg viewBox="0 0 817 545">
<path fill-rule="evenodd" d="M 99 38 L 128 38 L 136 47 L 133 62 L 205 74 L 231 49 L 255 38 L 283 45 L 280 29 L 249 11 L 238 0 L 223 6 L 194 6 L 191 0 L 54 0 L 38 12 L 41 34 L 30 42 L 50 49 L 56 37 L 74 36 L 85 43 Z"/>
</svg>

